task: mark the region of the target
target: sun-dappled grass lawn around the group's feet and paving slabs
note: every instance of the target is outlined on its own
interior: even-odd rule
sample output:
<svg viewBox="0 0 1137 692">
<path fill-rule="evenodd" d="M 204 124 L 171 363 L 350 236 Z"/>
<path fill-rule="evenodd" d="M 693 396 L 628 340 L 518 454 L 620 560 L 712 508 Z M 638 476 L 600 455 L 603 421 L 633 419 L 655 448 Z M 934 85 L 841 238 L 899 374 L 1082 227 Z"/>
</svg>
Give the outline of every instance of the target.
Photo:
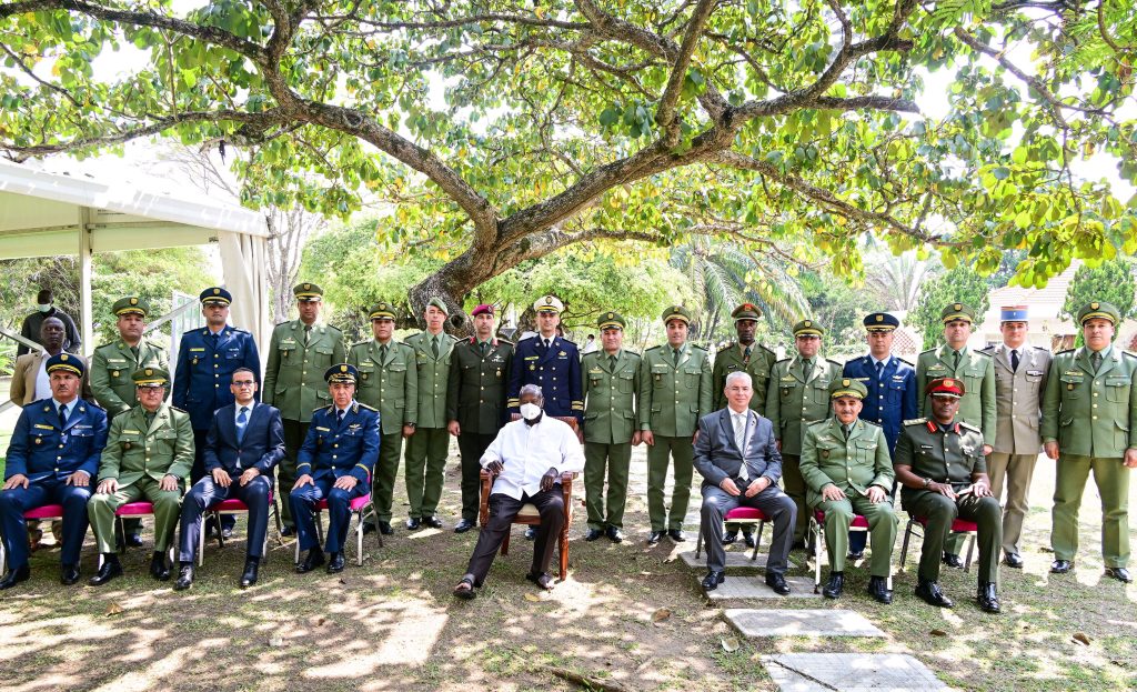
<svg viewBox="0 0 1137 692">
<path fill-rule="evenodd" d="M 633 464 L 644 459 L 640 448 Z M 479 598 L 455 600 L 450 590 L 476 532 L 409 534 L 401 527 L 402 505 L 396 506 L 396 535 L 382 551 L 371 543 L 364 567 L 349 562 L 338 577 L 294 575 L 291 544 L 276 546 L 262 583 L 249 591 L 235 587 L 240 543 L 223 551 L 207 547 L 205 567 L 184 593 L 147 576 L 147 549 L 132 551 L 124 562 L 126 577 L 101 590 L 60 586 L 58 552 L 43 550 L 33 557 L 32 580 L 0 596 L 6 661 L 0 686 L 9 692 L 579 689 L 555 677 L 549 668 L 556 667 L 629 690 L 772 690 L 760 656 L 831 651 L 911 653 L 961 690 L 1137 689 L 1137 586 L 1102 577 L 1093 484 L 1084 504 L 1077 574 L 1047 574 L 1053 469 L 1053 462 L 1039 461 L 1023 541 L 1026 569 L 1003 570 L 1001 616 L 974 604 L 974 572 L 945 569 L 943 583 L 957 601 L 954 610 L 916 600 L 916 541 L 908 570 L 895 578 L 890 607 L 863 593 L 864 568 L 849 570 L 852 583 L 837 603 L 765 602 L 852 609 L 887 637 L 754 640 L 728 653 L 722 640 L 736 633 L 704 598 L 702 571 L 674 559 L 678 551 L 666 541 L 656 549 L 644 544 L 647 517 L 639 481 L 632 486 L 629 541 L 622 545 L 581 541 L 580 509 L 568 580 L 550 593 L 523 579 L 531 546 L 517 528 L 511 554 L 495 562 Z M 404 497 L 401 483 L 400 477 L 397 502 Z M 456 521 L 457 485 L 451 462 L 441 512 L 448 527 Z M 84 578 L 94 571 L 94 558 L 89 538 Z M 798 565 L 792 574 L 807 572 L 802 553 L 791 560 Z M 653 623 L 661 608 L 671 616 Z"/>
</svg>

